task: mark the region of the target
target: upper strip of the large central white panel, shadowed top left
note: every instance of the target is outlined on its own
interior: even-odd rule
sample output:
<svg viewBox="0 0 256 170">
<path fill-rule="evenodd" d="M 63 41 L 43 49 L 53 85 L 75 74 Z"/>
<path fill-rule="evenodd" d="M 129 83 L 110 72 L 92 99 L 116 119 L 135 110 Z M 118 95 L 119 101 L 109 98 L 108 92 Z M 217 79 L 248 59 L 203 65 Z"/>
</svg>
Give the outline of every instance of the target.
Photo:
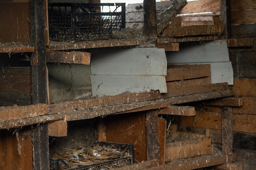
<svg viewBox="0 0 256 170">
<path fill-rule="evenodd" d="M 164 49 L 91 50 L 91 72 L 97 75 L 166 75 Z"/>
</svg>

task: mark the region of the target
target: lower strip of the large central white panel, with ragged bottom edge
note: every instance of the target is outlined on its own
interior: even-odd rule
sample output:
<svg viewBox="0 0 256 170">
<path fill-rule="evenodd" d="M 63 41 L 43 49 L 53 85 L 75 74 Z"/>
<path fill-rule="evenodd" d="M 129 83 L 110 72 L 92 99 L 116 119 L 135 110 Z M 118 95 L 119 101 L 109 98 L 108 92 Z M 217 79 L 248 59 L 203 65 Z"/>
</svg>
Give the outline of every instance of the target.
<svg viewBox="0 0 256 170">
<path fill-rule="evenodd" d="M 126 91 L 139 93 L 143 91 L 159 90 L 166 93 L 165 75 L 91 75 L 92 94 L 117 95 Z"/>
</svg>

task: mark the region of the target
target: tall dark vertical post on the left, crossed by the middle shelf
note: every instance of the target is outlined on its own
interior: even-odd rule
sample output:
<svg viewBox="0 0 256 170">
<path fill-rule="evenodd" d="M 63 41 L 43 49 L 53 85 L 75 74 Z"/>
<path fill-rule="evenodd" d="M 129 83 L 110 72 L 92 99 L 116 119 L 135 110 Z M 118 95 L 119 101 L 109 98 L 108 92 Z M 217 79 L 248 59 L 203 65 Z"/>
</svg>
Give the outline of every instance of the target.
<svg viewBox="0 0 256 170">
<path fill-rule="evenodd" d="M 30 0 L 32 104 L 47 103 L 45 0 Z M 48 125 L 33 128 L 34 170 L 49 170 Z"/>
</svg>

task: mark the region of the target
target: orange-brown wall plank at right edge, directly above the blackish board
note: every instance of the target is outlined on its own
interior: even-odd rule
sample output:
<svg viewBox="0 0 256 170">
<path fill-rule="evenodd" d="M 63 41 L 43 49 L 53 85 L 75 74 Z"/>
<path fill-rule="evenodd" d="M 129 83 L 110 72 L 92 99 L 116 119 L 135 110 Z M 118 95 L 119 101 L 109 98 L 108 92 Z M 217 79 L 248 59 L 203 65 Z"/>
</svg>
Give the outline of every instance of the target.
<svg viewBox="0 0 256 170">
<path fill-rule="evenodd" d="M 256 115 L 233 115 L 233 130 L 236 132 L 256 133 Z"/>
</svg>

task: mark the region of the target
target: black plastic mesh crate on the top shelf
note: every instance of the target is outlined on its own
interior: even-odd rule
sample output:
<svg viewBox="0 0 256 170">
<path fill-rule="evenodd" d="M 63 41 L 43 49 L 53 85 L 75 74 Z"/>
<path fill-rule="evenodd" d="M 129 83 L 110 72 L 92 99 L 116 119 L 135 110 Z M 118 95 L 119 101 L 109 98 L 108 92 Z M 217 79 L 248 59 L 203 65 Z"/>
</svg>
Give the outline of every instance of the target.
<svg viewBox="0 0 256 170">
<path fill-rule="evenodd" d="M 110 39 L 113 30 L 125 28 L 125 15 L 125 3 L 49 3 L 49 39 Z"/>
</svg>

